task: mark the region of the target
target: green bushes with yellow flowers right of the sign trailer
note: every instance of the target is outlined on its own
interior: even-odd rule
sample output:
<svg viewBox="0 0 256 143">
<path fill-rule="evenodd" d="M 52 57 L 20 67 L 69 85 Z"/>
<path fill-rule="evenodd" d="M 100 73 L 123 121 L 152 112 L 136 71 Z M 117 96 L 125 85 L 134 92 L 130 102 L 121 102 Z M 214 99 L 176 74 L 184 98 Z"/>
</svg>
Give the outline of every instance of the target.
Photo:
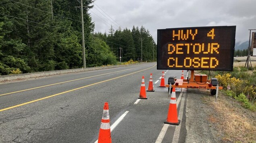
<svg viewBox="0 0 256 143">
<path fill-rule="evenodd" d="M 237 66 L 229 71 L 211 71 L 210 77 L 218 79 L 220 92 L 234 98 L 241 106 L 256 112 L 256 66 L 252 70 L 244 66 Z M 205 74 L 208 75 L 207 72 Z"/>
</svg>

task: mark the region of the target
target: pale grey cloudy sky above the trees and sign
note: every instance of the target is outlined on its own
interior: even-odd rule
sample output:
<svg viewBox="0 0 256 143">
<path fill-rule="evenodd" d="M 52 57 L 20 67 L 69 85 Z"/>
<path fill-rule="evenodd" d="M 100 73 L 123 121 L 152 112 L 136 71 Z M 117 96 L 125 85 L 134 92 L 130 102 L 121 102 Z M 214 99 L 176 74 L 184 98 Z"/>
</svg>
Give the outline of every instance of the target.
<svg viewBox="0 0 256 143">
<path fill-rule="evenodd" d="M 143 25 L 155 42 L 157 29 L 235 25 L 236 42 L 249 40 L 248 29 L 256 29 L 256 0 L 96 0 L 94 4 L 89 12 L 96 32 L 108 33 L 110 24 L 115 30 Z"/>
</svg>

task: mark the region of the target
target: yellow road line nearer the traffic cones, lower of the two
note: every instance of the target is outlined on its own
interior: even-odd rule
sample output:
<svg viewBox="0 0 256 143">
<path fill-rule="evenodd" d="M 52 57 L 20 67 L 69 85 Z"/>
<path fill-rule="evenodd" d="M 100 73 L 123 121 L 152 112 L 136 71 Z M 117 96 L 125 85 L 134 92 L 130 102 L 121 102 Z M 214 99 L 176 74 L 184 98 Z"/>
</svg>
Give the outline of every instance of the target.
<svg viewBox="0 0 256 143">
<path fill-rule="evenodd" d="M 155 64 L 154 66 L 156 66 L 156 64 Z M 152 66 L 152 67 L 150 67 L 150 68 L 153 68 L 154 66 Z M 150 68 L 146 68 L 146 69 L 144 69 L 144 70 L 148 70 L 148 69 L 150 69 Z M 139 71 L 137 71 L 137 72 L 129 73 L 129 74 L 127 74 L 127 75 L 132 75 L 132 74 L 135 74 L 135 73 L 139 73 L 139 72 L 144 71 L 144 70 L 139 70 Z M 118 78 L 121 78 L 121 77 L 125 77 L 125 76 L 127 76 L 127 75 L 122 75 L 122 76 L 120 76 L 120 77 L 115 77 L 115 78 L 112 78 L 112 79 L 108 79 L 108 80 L 106 80 L 106 81 L 101 81 L 101 82 L 94 83 L 94 84 L 91 84 L 91 85 L 86 85 L 86 86 L 84 86 L 84 87 L 79 87 L 79 88 L 77 88 L 77 89 L 72 89 L 72 90 L 69 90 L 69 91 L 62 92 L 62 93 L 57 93 L 57 94 L 55 94 L 55 95 L 50 95 L 50 96 L 48 96 L 48 97 L 44 97 L 44 98 L 36 99 L 36 100 L 33 100 L 33 101 L 29 101 L 29 102 L 26 102 L 26 103 L 22 103 L 22 104 L 19 104 L 19 105 L 15 105 L 15 106 L 12 106 L 12 107 L 4 108 L 4 109 L 1 109 L 0 112 L 5 111 L 5 110 L 8 110 L 8 109 L 15 108 L 15 107 L 27 105 L 27 104 L 29 104 L 29 103 L 33 103 L 33 102 L 36 102 L 36 101 L 48 99 L 48 98 L 50 98 L 50 97 L 54 97 L 54 96 L 61 95 L 61 94 L 64 94 L 64 93 L 69 93 L 69 92 L 71 92 L 71 91 L 76 91 L 76 90 L 78 90 L 78 89 L 83 89 L 83 88 L 85 88 L 85 87 L 89 87 L 89 86 L 92 86 L 92 85 L 97 85 L 97 84 L 100 84 L 100 83 L 104 83 L 104 82 L 107 82 L 107 81 L 111 81 L 111 80 L 113 80 L 113 79 L 118 79 Z"/>
</svg>

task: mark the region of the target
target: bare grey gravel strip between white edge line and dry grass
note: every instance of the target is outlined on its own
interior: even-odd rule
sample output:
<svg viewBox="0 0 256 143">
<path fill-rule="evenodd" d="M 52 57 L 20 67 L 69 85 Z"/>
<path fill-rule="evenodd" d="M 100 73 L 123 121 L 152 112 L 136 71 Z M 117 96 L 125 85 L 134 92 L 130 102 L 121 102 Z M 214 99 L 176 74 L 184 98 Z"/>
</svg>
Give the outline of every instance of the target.
<svg viewBox="0 0 256 143">
<path fill-rule="evenodd" d="M 186 107 L 186 143 L 216 143 L 220 142 L 220 133 L 209 121 L 212 116 L 212 108 L 202 101 L 206 91 L 188 89 Z M 214 100 L 212 100 L 214 102 Z"/>
</svg>

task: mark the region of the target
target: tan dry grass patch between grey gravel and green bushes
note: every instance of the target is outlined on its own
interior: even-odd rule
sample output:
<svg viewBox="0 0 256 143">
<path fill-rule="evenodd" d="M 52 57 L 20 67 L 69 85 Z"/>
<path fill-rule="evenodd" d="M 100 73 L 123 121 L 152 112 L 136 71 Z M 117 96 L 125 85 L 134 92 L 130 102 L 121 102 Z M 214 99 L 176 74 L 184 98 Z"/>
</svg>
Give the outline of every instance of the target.
<svg viewBox="0 0 256 143">
<path fill-rule="evenodd" d="M 219 133 L 221 141 L 235 143 L 256 143 L 256 112 L 241 107 L 231 97 L 219 94 L 218 103 L 212 102 L 215 97 L 204 96 L 202 102 L 212 109 L 208 121 Z"/>
</svg>

